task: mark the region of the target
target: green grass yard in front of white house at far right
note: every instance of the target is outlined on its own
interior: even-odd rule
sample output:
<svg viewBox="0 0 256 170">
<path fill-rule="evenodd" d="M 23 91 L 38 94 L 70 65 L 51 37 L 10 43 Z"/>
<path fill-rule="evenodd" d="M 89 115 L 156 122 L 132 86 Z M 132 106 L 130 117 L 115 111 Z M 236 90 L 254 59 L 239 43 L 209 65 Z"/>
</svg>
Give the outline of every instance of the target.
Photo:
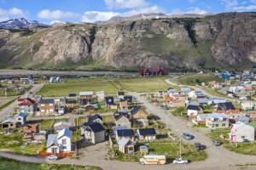
<svg viewBox="0 0 256 170">
<path fill-rule="evenodd" d="M 230 129 L 224 130 L 213 130 L 212 133 L 209 133 L 211 139 L 218 139 L 224 145 L 224 148 L 230 151 L 234 151 L 236 153 L 245 154 L 245 155 L 253 155 L 256 156 L 256 142 L 250 143 L 230 143 L 227 139 L 229 139 Z M 221 139 L 219 136 L 223 134 L 224 139 Z"/>
</svg>

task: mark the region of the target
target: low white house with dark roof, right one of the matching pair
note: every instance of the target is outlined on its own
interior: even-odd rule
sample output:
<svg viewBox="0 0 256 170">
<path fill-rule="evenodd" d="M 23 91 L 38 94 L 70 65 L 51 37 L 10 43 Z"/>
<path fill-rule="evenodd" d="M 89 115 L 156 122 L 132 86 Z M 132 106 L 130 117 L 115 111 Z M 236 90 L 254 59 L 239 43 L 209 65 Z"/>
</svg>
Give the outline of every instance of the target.
<svg viewBox="0 0 256 170">
<path fill-rule="evenodd" d="M 139 128 L 137 129 L 137 138 L 139 140 L 153 141 L 156 139 L 156 132 L 154 128 Z"/>
</svg>

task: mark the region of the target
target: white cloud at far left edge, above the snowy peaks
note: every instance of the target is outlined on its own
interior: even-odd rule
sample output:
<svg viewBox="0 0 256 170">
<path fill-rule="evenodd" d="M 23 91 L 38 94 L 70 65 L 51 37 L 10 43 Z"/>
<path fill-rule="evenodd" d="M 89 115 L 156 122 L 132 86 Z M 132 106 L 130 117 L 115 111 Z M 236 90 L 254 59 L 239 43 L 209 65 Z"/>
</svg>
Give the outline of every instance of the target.
<svg viewBox="0 0 256 170">
<path fill-rule="evenodd" d="M 27 17 L 28 12 L 21 10 L 20 8 L 10 8 L 5 10 L 0 8 L 0 20 L 9 20 L 9 18 L 20 18 L 20 17 Z"/>
</svg>

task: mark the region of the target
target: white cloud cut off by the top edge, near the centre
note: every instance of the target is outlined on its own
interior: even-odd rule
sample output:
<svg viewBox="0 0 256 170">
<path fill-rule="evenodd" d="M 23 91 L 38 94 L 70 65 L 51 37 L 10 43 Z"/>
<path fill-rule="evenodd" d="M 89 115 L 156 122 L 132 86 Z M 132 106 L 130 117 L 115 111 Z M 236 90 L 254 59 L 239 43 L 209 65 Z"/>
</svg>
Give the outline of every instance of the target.
<svg viewBox="0 0 256 170">
<path fill-rule="evenodd" d="M 143 8 L 149 6 L 145 0 L 104 0 L 108 8 Z"/>
</svg>

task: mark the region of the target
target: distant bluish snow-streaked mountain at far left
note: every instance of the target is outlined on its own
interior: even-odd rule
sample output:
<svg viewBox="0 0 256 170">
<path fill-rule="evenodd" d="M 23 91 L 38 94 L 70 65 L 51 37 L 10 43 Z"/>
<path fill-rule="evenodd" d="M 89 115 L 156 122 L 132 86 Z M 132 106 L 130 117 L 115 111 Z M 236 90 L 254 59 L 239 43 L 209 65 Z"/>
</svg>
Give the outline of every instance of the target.
<svg viewBox="0 0 256 170">
<path fill-rule="evenodd" d="M 45 26 L 49 27 L 48 25 L 43 24 L 37 20 L 26 20 L 24 18 L 20 19 L 12 19 L 0 22 L 0 28 L 3 29 L 15 29 L 15 28 L 28 28 L 30 26 Z"/>
</svg>

